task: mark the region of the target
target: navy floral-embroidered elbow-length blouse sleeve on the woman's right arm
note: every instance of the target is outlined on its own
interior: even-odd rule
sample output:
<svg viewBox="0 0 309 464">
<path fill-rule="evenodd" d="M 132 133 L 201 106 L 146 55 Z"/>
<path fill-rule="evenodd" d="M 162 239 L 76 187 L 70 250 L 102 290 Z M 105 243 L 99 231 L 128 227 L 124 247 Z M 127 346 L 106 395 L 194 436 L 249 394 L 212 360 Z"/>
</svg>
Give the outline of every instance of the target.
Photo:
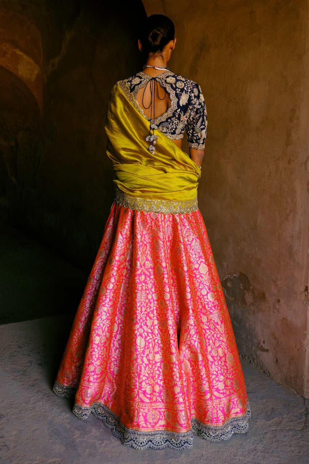
<svg viewBox="0 0 309 464">
<path fill-rule="evenodd" d="M 207 113 L 201 87 L 195 84 L 190 95 L 189 116 L 187 119 L 187 138 L 190 148 L 205 148 Z"/>
</svg>

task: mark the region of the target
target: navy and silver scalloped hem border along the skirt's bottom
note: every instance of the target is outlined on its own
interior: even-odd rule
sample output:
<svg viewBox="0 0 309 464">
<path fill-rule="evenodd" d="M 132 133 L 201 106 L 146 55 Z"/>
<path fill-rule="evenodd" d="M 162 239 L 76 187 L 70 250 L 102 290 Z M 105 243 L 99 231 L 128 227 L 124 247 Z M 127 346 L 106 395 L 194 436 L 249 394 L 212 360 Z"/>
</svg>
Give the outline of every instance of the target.
<svg viewBox="0 0 309 464">
<path fill-rule="evenodd" d="M 61 385 L 55 382 L 54 392 L 62 398 L 74 398 L 77 388 Z M 193 434 L 209 441 L 228 440 L 234 433 L 246 433 L 248 419 L 251 417 L 250 405 L 247 402 L 246 414 L 228 419 L 223 425 L 205 425 L 198 419 L 192 418 L 192 427 L 189 432 L 152 431 L 141 432 L 132 430 L 121 424 L 120 419 L 107 406 L 102 403 L 93 403 L 90 407 L 79 406 L 74 403 L 73 412 L 80 419 L 87 419 L 90 412 L 95 418 L 102 420 L 103 424 L 111 429 L 115 437 L 120 438 L 122 445 L 132 446 L 137 450 L 153 448 L 162 450 L 170 447 L 173 450 L 183 451 L 192 448 Z"/>
</svg>

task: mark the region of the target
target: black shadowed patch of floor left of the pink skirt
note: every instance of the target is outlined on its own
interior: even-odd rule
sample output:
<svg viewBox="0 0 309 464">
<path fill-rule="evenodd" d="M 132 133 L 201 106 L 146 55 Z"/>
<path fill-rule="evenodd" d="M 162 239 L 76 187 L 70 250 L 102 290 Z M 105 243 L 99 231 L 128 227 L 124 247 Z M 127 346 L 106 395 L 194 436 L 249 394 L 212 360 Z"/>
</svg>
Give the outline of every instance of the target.
<svg viewBox="0 0 309 464">
<path fill-rule="evenodd" d="M 87 277 L 0 221 L 0 324 L 76 312 Z"/>
</svg>

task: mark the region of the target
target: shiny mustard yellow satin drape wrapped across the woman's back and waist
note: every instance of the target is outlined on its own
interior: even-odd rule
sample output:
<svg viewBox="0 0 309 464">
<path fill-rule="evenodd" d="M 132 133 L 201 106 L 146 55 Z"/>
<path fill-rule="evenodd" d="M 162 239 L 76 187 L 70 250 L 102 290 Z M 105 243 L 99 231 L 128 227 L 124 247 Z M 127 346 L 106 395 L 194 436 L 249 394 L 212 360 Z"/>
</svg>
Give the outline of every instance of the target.
<svg viewBox="0 0 309 464">
<path fill-rule="evenodd" d="M 109 98 L 105 130 L 107 155 L 113 161 L 117 187 L 126 195 L 155 200 L 194 200 L 200 170 L 162 132 L 155 154 L 148 151 L 149 121 L 117 83 Z"/>
</svg>

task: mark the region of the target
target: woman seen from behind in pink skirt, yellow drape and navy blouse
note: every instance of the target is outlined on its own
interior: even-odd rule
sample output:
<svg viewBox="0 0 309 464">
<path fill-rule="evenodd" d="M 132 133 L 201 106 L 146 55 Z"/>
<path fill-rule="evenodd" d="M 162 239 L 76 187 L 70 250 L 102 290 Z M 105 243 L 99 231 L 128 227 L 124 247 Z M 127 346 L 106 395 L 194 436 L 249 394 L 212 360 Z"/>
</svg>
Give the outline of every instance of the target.
<svg viewBox="0 0 309 464">
<path fill-rule="evenodd" d="M 250 409 L 197 206 L 200 87 L 166 67 L 174 25 L 150 16 L 143 71 L 118 82 L 105 129 L 116 201 L 55 382 L 124 445 L 182 450 L 246 432 Z M 187 132 L 190 157 L 181 150 Z"/>
</svg>

